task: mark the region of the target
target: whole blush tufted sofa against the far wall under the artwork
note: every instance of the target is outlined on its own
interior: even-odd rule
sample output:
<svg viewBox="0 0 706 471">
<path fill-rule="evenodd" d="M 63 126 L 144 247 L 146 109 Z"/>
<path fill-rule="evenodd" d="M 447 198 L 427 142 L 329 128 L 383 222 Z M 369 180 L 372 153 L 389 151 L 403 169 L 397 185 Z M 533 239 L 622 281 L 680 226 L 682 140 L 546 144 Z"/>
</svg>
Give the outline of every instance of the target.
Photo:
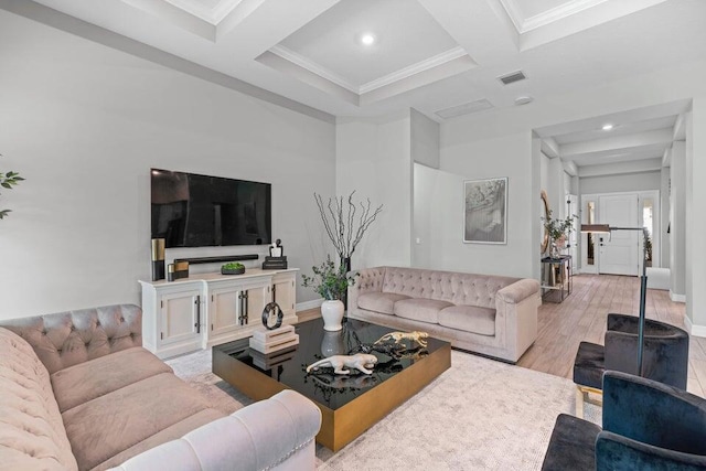
<svg viewBox="0 0 706 471">
<path fill-rule="evenodd" d="M 349 288 L 350 318 L 428 332 L 512 363 L 537 338 L 537 280 L 399 267 L 359 275 Z"/>
</svg>

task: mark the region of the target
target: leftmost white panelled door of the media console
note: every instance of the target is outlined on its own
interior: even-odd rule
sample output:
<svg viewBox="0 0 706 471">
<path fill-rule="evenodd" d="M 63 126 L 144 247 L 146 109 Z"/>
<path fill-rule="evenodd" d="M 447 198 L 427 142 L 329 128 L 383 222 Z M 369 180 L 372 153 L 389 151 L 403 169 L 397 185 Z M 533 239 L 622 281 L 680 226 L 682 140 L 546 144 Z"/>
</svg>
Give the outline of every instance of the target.
<svg viewBox="0 0 706 471">
<path fill-rule="evenodd" d="M 193 342 L 195 349 L 199 349 L 200 323 L 201 290 L 190 289 L 160 296 L 160 346 Z"/>
</svg>

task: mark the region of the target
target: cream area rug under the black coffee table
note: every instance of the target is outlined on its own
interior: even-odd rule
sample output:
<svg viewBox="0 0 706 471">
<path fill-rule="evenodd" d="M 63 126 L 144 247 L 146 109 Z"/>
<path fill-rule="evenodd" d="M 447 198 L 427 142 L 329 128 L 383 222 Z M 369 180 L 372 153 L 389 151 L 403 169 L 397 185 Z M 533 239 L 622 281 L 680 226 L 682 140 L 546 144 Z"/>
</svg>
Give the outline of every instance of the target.
<svg viewBox="0 0 706 471">
<path fill-rule="evenodd" d="M 167 363 L 225 414 L 252 403 L 211 373 L 211 350 Z M 318 469 L 538 470 L 556 416 L 574 413 L 574 383 L 457 351 L 451 365 L 338 453 L 318 445 Z M 588 420 L 600 414 L 586 405 Z"/>
</svg>

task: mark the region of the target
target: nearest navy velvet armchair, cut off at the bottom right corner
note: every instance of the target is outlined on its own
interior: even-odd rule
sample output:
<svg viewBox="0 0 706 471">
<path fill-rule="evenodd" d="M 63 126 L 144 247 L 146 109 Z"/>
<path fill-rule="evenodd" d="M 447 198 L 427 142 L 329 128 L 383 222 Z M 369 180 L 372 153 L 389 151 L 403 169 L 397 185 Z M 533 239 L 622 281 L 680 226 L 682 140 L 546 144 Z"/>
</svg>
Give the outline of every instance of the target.
<svg viewBox="0 0 706 471">
<path fill-rule="evenodd" d="M 559 415 L 542 470 L 706 470 L 706 399 L 606 372 L 603 428 Z"/>
</svg>

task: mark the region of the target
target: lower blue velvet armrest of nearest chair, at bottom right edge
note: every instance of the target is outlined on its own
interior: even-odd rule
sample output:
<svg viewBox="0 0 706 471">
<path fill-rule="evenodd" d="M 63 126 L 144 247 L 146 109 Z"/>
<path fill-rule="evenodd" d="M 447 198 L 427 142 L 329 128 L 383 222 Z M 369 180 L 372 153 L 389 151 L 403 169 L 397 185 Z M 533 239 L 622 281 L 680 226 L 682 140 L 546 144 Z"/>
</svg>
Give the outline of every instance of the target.
<svg viewBox="0 0 706 471">
<path fill-rule="evenodd" d="M 596 439 L 596 469 L 611 471 L 696 471 L 706 467 L 706 457 L 642 443 L 610 431 Z"/>
</svg>

